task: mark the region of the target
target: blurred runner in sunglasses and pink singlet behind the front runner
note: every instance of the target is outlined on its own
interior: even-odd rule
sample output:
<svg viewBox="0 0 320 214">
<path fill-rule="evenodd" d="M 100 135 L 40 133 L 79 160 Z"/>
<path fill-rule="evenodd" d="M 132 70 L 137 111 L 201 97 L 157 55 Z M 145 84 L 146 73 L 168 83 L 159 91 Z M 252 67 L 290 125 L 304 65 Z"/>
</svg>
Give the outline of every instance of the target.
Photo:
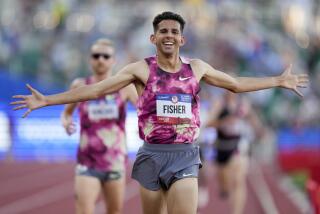
<svg viewBox="0 0 320 214">
<path fill-rule="evenodd" d="M 99 39 L 90 50 L 93 74 L 75 79 L 71 89 L 94 84 L 111 76 L 115 62 L 111 41 Z M 122 212 L 125 189 L 126 102 L 134 105 L 137 92 L 129 85 L 97 99 L 65 106 L 61 121 L 66 132 L 75 132 L 72 114 L 78 107 L 80 116 L 80 144 L 77 153 L 75 197 L 77 213 L 94 213 L 95 203 L 102 190 L 107 213 Z"/>
</svg>

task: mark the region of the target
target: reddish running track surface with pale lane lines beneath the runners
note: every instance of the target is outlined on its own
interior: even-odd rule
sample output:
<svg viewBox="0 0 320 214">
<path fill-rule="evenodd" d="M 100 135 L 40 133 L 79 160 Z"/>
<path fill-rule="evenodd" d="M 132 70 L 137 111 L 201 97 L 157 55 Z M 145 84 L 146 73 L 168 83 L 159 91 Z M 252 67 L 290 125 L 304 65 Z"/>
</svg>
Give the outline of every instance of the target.
<svg viewBox="0 0 320 214">
<path fill-rule="evenodd" d="M 228 214 L 226 201 L 217 195 L 214 168 L 209 171 L 210 201 L 198 214 Z M 73 199 L 74 163 L 0 162 L 0 213 L 75 213 Z M 130 179 L 128 167 L 124 214 L 142 213 L 139 186 Z M 277 184 L 277 173 L 255 164 L 248 175 L 246 214 L 301 213 Z M 104 213 L 101 201 L 96 212 Z"/>
</svg>

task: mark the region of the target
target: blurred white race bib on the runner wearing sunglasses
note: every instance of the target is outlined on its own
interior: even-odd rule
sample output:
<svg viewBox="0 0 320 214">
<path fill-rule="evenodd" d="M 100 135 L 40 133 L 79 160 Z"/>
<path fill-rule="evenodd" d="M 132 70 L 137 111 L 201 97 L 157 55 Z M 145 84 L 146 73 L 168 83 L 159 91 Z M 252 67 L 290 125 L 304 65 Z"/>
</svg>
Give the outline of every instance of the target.
<svg viewBox="0 0 320 214">
<path fill-rule="evenodd" d="M 91 120 L 110 120 L 119 118 L 119 109 L 115 102 L 92 102 L 88 106 L 88 113 L 89 119 Z"/>
</svg>

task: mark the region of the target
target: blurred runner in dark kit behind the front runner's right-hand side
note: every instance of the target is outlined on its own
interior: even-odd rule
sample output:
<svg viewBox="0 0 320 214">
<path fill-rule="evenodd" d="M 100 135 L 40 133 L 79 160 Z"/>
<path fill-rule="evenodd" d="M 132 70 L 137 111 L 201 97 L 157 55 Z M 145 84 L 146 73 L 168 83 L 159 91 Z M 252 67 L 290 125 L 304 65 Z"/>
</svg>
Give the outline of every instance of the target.
<svg viewBox="0 0 320 214">
<path fill-rule="evenodd" d="M 250 143 L 264 133 L 259 117 L 245 97 L 226 91 L 209 114 L 208 127 L 215 127 L 215 163 L 220 197 L 228 198 L 233 214 L 243 213 Z"/>
</svg>

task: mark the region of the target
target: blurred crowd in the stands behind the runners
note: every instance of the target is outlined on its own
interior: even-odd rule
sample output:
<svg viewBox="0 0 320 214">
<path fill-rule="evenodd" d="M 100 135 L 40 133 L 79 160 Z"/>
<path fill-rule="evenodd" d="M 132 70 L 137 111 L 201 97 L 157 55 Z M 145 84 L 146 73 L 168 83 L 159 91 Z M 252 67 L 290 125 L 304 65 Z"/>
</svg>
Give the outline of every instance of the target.
<svg viewBox="0 0 320 214">
<path fill-rule="evenodd" d="M 88 75 L 88 50 L 100 37 L 117 47 L 117 66 L 154 54 L 152 19 L 161 11 L 187 21 L 182 55 L 242 76 L 273 76 L 290 63 L 308 73 L 303 102 L 292 92 L 248 93 L 269 124 L 317 126 L 320 121 L 320 14 L 318 0 L 2 0 L 0 67 L 66 88 Z M 219 96 L 203 87 L 209 102 Z"/>
</svg>

